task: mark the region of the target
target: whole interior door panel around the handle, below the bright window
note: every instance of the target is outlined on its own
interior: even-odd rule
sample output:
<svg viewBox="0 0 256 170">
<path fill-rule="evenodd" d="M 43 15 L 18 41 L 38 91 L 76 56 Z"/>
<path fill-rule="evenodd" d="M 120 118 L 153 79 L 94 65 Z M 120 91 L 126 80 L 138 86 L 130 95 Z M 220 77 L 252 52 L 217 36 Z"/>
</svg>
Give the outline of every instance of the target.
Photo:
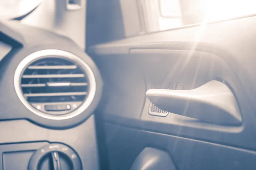
<svg viewBox="0 0 256 170">
<path fill-rule="evenodd" d="M 247 17 L 90 47 L 108 87 L 99 112 L 105 121 L 110 169 L 128 170 L 145 147 L 168 151 L 179 170 L 254 169 L 255 24 L 256 17 Z M 211 80 L 233 92 L 241 124 L 148 114 L 148 89 L 175 89 L 181 82 L 189 90 Z M 123 105 L 117 102 L 121 100 Z"/>
</svg>

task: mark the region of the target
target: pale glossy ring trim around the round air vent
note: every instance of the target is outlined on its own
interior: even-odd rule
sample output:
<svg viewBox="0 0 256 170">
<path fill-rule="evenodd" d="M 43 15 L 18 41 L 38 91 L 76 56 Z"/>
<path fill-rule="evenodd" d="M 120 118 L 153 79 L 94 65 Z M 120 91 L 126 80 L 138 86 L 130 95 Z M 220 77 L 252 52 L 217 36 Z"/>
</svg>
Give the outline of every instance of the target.
<svg viewBox="0 0 256 170">
<path fill-rule="evenodd" d="M 75 111 L 68 113 L 66 115 L 62 115 L 62 116 L 49 115 L 49 114 L 40 112 L 40 111 L 36 110 L 35 108 L 33 108 L 29 104 L 29 102 L 27 102 L 26 99 L 24 98 L 21 87 L 20 87 L 21 75 L 23 74 L 23 71 L 25 70 L 25 68 L 31 62 L 34 62 L 36 59 L 40 59 L 40 58 L 52 57 L 53 55 L 60 57 L 60 58 L 70 59 L 70 60 L 78 63 L 79 65 L 81 65 L 82 68 L 84 68 L 84 71 L 87 74 L 87 78 L 90 83 L 89 94 L 88 94 L 86 100 L 84 101 L 84 103 Z M 56 49 L 47 49 L 47 50 L 41 50 L 41 51 L 32 53 L 20 62 L 20 64 L 16 68 L 15 75 L 14 75 L 14 87 L 15 87 L 15 91 L 17 93 L 18 98 L 23 103 L 23 105 L 25 105 L 26 108 L 29 109 L 29 111 L 32 111 L 36 115 L 44 117 L 46 119 L 64 120 L 64 119 L 73 118 L 73 117 L 81 114 L 83 111 L 85 111 L 90 106 L 90 104 L 92 103 L 92 101 L 94 99 L 95 93 L 96 93 L 96 80 L 95 80 L 93 71 L 91 70 L 89 65 L 87 65 L 87 63 L 84 62 L 80 57 L 78 57 L 72 53 L 69 53 L 67 51 L 56 50 Z"/>
</svg>

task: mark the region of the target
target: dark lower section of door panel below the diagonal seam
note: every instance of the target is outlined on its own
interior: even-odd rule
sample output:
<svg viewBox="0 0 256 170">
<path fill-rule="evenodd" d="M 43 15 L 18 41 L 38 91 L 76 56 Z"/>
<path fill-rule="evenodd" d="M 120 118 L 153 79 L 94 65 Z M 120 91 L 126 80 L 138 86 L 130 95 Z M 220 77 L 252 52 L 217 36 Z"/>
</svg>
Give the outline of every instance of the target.
<svg viewBox="0 0 256 170">
<path fill-rule="evenodd" d="M 145 147 L 166 150 L 177 170 L 254 170 L 256 152 L 106 123 L 111 170 L 130 170 Z"/>
</svg>

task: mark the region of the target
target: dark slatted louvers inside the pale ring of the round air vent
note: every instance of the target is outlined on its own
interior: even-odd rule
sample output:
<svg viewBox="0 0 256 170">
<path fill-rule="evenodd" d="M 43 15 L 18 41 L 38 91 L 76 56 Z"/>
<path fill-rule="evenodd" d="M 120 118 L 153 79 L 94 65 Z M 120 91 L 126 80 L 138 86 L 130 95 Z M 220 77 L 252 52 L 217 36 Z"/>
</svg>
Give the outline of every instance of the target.
<svg viewBox="0 0 256 170">
<path fill-rule="evenodd" d="M 89 88 L 86 77 L 74 62 L 44 58 L 25 69 L 21 88 L 26 100 L 38 110 L 68 112 L 78 108 L 86 99 Z"/>
</svg>

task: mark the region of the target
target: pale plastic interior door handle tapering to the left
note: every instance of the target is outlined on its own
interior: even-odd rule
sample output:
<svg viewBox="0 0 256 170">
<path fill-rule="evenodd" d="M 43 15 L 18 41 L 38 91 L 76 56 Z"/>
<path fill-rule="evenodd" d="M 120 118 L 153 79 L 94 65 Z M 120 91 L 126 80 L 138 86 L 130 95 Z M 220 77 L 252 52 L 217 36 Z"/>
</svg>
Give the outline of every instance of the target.
<svg viewBox="0 0 256 170">
<path fill-rule="evenodd" d="M 232 91 L 216 80 L 192 90 L 149 89 L 146 96 L 163 111 L 216 124 L 238 125 L 242 122 Z"/>
</svg>

